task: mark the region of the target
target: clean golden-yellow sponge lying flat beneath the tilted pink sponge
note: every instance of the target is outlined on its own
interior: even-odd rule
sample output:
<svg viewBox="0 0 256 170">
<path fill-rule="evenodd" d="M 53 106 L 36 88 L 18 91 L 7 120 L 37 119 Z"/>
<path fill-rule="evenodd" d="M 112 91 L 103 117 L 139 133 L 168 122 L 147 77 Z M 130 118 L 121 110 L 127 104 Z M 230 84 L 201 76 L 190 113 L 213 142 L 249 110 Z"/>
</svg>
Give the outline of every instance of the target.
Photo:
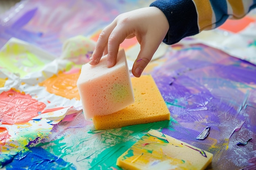
<svg viewBox="0 0 256 170">
<path fill-rule="evenodd" d="M 151 75 L 132 77 L 135 103 L 110 115 L 94 116 L 95 129 L 111 129 L 170 120 L 170 112 Z"/>
</svg>

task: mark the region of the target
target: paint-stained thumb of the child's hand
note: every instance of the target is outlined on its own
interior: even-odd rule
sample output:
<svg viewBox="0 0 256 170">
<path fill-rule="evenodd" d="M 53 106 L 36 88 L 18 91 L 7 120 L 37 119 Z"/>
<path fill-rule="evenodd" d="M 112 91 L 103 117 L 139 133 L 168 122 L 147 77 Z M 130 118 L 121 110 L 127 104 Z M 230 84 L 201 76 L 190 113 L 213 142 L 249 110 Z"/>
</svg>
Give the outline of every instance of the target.
<svg viewBox="0 0 256 170">
<path fill-rule="evenodd" d="M 137 59 L 135 60 L 132 66 L 132 74 L 135 77 L 140 77 L 150 60 L 152 59 L 155 51 L 160 44 L 156 44 L 155 42 L 146 41 L 144 44 L 141 43 L 141 48 L 138 54 Z"/>
</svg>

